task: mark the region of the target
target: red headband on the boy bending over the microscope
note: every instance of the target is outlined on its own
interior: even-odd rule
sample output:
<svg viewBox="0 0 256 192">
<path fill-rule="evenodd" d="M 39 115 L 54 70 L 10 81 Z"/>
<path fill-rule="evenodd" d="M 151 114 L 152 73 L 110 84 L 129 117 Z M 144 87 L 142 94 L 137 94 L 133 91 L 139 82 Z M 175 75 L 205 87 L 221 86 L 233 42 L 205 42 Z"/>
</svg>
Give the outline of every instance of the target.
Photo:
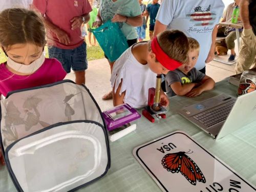
<svg viewBox="0 0 256 192">
<path fill-rule="evenodd" d="M 158 44 L 157 37 L 154 37 L 151 41 L 151 49 L 153 53 L 156 54 L 157 60 L 161 63 L 166 69 L 173 71 L 182 65 L 181 62 L 170 58 Z"/>
</svg>

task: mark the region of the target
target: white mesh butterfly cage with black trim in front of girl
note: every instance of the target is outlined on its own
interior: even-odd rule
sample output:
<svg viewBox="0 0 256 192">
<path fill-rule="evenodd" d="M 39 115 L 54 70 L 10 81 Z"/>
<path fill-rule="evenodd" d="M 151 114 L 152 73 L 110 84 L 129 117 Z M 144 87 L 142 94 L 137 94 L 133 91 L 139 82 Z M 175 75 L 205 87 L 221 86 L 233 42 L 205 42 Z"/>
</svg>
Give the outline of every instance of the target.
<svg viewBox="0 0 256 192">
<path fill-rule="evenodd" d="M 90 91 L 71 80 L 1 100 L 0 140 L 18 191 L 69 191 L 103 177 L 110 148 Z"/>
</svg>

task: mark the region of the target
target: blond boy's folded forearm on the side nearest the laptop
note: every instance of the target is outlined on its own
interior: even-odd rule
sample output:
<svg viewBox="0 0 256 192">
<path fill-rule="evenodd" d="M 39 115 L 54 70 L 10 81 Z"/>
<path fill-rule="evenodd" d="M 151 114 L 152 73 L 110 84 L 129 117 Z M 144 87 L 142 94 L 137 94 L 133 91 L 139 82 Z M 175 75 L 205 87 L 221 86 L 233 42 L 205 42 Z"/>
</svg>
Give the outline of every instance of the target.
<svg viewBox="0 0 256 192">
<path fill-rule="evenodd" d="M 203 80 L 201 81 L 201 86 L 192 89 L 190 92 L 186 94 L 187 97 L 196 97 L 203 93 L 204 91 L 211 90 L 215 86 L 214 79 L 205 75 Z"/>
</svg>

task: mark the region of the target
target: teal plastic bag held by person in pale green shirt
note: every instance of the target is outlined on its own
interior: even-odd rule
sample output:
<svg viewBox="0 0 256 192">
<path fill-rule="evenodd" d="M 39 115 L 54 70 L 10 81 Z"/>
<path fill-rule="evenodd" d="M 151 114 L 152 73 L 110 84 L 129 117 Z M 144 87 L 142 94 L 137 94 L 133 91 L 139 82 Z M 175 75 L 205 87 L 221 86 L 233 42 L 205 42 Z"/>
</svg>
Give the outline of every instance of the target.
<svg viewBox="0 0 256 192">
<path fill-rule="evenodd" d="M 119 29 L 118 23 L 112 23 L 111 20 L 94 29 L 93 34 L 111 62 L 118 59 L 128 48 L 127 39 Z"/>
</svg>

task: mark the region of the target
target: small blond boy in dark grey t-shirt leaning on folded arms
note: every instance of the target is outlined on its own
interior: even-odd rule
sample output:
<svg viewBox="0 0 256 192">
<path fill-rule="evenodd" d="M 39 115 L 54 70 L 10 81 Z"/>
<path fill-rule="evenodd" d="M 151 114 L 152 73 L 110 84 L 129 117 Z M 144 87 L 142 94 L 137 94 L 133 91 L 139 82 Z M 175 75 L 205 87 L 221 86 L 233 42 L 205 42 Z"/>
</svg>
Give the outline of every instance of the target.
<svg viewBox="0 0 256 192">
<path fill-rule="evenodd" d="M 199 56 L 199 42 L 191 37 L 188 37 L 188 42 L 187 62 L 178 69 L 169 71 L 165 76 L 166 94 L 168 97 L 175 95 L 196 97 L 215 86 L 212 78 L 195 68 Z"/>
</svg>

